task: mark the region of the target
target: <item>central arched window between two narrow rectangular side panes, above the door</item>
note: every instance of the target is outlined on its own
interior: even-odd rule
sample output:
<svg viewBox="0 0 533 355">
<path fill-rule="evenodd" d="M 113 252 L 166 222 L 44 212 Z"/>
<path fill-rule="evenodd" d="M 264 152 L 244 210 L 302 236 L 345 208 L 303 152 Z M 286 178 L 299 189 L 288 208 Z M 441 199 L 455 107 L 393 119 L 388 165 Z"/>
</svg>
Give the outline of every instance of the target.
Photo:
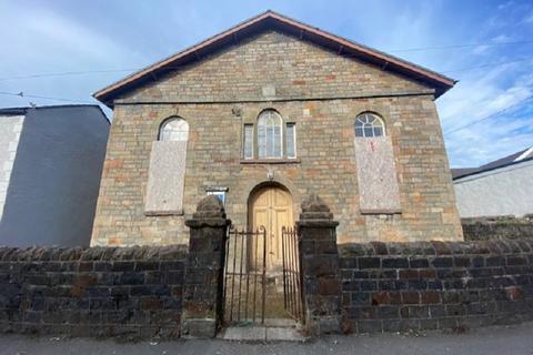
<svg viewBox="0 0 533 355">
<path fill-rule="evenodd" d="M 262 158 L 283 158 L 281 115 L 274 110 L 261 112 L 258 118 L 258 155 Z"/>
</svg>

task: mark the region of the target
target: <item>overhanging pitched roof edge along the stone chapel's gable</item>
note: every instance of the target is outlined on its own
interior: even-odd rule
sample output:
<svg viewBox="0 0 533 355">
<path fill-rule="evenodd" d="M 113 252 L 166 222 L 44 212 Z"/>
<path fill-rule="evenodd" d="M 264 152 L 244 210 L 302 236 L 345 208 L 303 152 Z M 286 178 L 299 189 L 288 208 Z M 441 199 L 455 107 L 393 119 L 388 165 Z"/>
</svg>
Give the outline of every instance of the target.
<svg viewBox="0 0 533 355">
<path fill-rule="evenodd" d="M 157 80 L 160 74 L 175 69 L 177 67 L 199 60 L 201 57 L 212 53 L 225 45 L 234 44 L 239 39 L 268 29 L 276 29 L 286 33 L 295 34 L 301 39 L 334 50 L 339 54 L 349 54 L 350 57 L 379 65 L 383 70 L 394 71 L 416 81 L 424 82 L 435 90 L 435 97 L 440 97 L 446 92 L 456 82 L 455 80 L 438 72 L 269 10 L 239 23 L 227 31 L 211 37 L 203 42 L 128 75 L 124 79 L 97 91 L 93 97 L 104 104 L 112 105 L 112 100 L 120 93 L 137 88 L 149 80 Z"/>
</svg>

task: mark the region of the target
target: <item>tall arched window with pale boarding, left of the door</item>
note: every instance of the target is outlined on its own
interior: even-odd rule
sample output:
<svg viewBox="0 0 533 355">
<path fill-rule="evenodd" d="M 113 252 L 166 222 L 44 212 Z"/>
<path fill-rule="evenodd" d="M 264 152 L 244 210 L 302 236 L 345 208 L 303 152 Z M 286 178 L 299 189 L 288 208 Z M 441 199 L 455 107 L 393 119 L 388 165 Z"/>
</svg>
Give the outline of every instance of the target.
<svg viewBox="0 0 533 355">
<path fill-rule="evenodd" d="M 182 119 L 161 125 L 150 154 L 145 214 L 183 213 L 188 138 L 189 124 Z"/>
</svg>

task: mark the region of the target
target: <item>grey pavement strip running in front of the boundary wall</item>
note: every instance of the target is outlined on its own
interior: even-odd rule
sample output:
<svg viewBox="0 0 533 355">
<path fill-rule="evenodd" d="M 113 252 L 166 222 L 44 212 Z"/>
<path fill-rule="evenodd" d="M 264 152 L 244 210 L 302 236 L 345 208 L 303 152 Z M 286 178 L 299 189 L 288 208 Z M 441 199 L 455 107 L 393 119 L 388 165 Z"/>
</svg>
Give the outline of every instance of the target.
<svg viewBox="0 0 533 355">
<path fill-rule="evenodd" d="M 375 334 L 326 336 L 306 343 L 243 343 L 223 339 L 187 339 L 174 342 L 117 343 L 87 338 L 31 337 L 0 335 L 0 354 L 533 354 L 533 322 L 511 326 L 493 326 L 464 334 L 428 332 L 423 334 Z"/>
</svg>

